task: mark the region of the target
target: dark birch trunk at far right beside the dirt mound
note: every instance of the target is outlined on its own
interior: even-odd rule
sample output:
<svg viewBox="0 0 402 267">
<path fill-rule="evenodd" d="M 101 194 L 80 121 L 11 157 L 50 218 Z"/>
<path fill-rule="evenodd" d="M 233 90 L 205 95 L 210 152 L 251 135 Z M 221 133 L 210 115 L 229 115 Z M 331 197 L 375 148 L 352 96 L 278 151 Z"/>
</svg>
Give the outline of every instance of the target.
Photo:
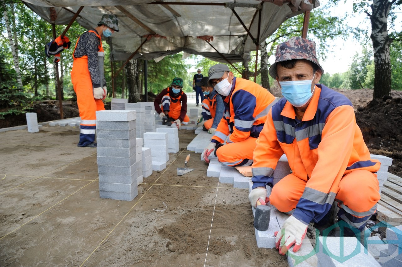
<svg viewBox="0 0 402 267">
<path fill-rule="evenodd" d="M 394 1 L 373 0 L 371 21 L 371 40 L 374 49 L 374 92 L 373 99 L 389 96 L 391 93 L 391 59 L 388 36 L 388 15 Z"/>
</svg>

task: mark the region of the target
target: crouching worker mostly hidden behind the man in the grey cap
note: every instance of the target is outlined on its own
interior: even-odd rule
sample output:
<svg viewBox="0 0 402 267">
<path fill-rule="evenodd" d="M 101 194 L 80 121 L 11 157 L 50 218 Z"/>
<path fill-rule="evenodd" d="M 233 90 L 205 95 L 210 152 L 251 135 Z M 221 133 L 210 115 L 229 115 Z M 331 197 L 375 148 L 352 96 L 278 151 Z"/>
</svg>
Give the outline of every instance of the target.
<svg viewBox="0 0 402 267">
<path fill-rule="evenodd" d="M 208 77 L 203 77 L 198 86 L 204 94 L 201 116 L 197 122 L 204 120 L 203 130 L 207 130 L 211 135 L 215 134 L 216 128 L 224 114 L 225 105 L 222 96 L 219 96 L 212 86 L 208 85 Z"/>
</svg>

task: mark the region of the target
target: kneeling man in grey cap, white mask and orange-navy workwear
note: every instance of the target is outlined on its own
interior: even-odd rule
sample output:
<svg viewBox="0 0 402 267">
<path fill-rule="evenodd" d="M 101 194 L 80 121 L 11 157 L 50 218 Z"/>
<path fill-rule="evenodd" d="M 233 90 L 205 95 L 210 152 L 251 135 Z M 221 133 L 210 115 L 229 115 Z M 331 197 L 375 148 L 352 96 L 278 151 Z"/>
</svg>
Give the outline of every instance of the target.
<svg viewBox="0 0 402 267">
<path fill-rule="evenodd" d="M 215 149 L 218 160 L 224 165 L 249 166 L 255 141 L 268 111 L 276 102 L 275 96 L 254 82 L 234 77 L 224 64 L 213 65 L 208 74 L 209 85 L 224 100 L 225 112 L 211 143 L 203 151 L 203 159 L 209 162 L 208 156 Z"/>
</svg>

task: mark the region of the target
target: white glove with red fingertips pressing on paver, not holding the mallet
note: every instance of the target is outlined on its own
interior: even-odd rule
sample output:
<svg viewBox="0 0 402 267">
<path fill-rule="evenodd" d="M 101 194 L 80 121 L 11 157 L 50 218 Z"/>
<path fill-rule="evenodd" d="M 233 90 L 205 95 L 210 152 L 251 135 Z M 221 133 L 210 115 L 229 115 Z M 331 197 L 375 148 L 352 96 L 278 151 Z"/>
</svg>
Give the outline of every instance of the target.
<svg viewBox="0 0 402 267">
<path fill-rule="evenodd" d="M 285 255 L 289 248 L 293 245 L 293 252 L 296 252 L 301 247 L 301 242 L 306 236 L 308 224 L 297 220 L 293 215 L 283 222 L 282 228 L 276 231 L 274 235 L 275 246 L 279 249 L 280 255 Z"/>
</svg>

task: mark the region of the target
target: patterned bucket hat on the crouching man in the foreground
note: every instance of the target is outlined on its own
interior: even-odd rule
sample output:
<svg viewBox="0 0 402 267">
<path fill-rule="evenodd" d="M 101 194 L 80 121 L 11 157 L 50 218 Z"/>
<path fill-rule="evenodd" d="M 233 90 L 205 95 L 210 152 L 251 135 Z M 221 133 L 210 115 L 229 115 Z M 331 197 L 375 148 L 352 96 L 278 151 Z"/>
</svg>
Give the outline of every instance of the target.
<svg viewBox="0 0 402 267">
<path fill-rule="evenodd" d="M 274 79 L 277 76 L 276 65 L 278 62 L 287 61 L 290 59 L 306 59 L 317 65 L 318 69 L 324 73 L 316 56 L 316 43 L 301 37 L 292 37 L 284 43 L 277 46 L 275 53 L 275 63 L 269 68 L 269 75 Z"/>
</svg>

